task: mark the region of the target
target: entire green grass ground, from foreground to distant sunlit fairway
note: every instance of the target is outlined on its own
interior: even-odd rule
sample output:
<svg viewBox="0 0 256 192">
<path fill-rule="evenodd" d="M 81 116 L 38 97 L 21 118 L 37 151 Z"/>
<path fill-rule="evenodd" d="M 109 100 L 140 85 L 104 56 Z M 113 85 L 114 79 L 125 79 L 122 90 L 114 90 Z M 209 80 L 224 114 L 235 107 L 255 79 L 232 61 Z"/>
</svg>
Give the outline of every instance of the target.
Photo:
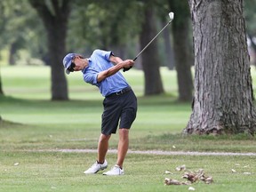
<svg viewBox="0 0 256 192">
<path fill-rule="evenodd" d="M 4 97 L 0 97 L 0 191 L 188 191 L 189 186 L 164 186 L 164 178 L 181 179 L 175 168 L 204 169 L 211 185 L 196 182 L 196 191 L 255 191 L 256 140 L 246 135 L 181 135 L 191 113 L 179 103 L 174 71 L 161 70 L 165 94 L 143 97 L 143 74 L 124 76 L 138 96 L 138 116 L 130 134 L 130 150 L 252 153 L 252 156 L 184 156 L 129 153 L 121 177 L 84 175 L 96 153 L 59 149 L 96 149 L 100 135 L 102 97 L 85 84 L 81 73 L 68 76 L 68 101 L 51 101 L 50 68 L 1 67 Z M 252 69 L 253 85 L 256 84 Z M 255 90 L 255 89 L 254 89 Z M 116 149 L 113 135 L 109 148 Z M 116 154 L 108 154 L 108 168 Z M 233 169 L 233 172 L 232 172 Z M 234 172 L 234 170 L 236 172 Z M 172 174 L 165 174 L 165 171 Z"/>
</svg>

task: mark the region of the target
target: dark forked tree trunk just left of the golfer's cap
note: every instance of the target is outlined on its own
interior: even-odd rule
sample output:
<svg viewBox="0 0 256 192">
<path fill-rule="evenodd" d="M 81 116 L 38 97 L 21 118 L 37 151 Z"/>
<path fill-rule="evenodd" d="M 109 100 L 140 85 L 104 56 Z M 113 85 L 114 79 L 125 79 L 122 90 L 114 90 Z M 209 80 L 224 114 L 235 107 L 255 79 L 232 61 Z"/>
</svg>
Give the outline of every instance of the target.
<svg viewBox="0 0 256 192">
<path fill-rule="evenodd" d="M 51 0 L 52 7 L 46 1 L 29 0 L 36 9 L 48 36 L 48 51 L 51 62 L 52 100 L 68 100 L 68 84 L 64 74 L 62 60 L 66 54 L 69 0 Z"/>
</svg>

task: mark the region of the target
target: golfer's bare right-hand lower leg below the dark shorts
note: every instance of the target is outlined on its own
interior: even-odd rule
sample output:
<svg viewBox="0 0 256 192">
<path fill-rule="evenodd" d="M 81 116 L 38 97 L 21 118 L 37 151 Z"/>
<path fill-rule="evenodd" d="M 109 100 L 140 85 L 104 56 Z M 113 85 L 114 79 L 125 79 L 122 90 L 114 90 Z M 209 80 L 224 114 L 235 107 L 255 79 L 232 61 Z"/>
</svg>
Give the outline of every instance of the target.
<svg viewBox="0 0 256 192">
<path fill-rule="evenodd" d="M 129 129 L 119 129 L 119 142 L 116 164 L 123 168 L 124 157 L 129 147 Z"/>
</svg>

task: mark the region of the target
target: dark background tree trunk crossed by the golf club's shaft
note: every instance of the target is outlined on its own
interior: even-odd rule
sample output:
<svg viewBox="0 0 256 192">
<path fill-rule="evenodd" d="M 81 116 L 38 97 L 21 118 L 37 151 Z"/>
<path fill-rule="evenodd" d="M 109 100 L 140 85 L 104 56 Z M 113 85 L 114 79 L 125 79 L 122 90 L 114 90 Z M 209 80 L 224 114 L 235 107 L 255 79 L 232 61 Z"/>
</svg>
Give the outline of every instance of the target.
<svg viewBox="0 0 256 192">
<path fill-rule="evenodd" d="M 151 39 L 156 36 L 156 20 L 152 7 L 145 7 L 145 20 L 142 24 L 142 31 L 140 34 L 140 47 L 143 49 Z M 145 95 L 156 95 L 164 92 L 161 76 L 159 54 L 157 51 L 156 40 L 148 46 L 148 48 L 141 54 L 142 68 L 145 77 Z"/>
</svg>

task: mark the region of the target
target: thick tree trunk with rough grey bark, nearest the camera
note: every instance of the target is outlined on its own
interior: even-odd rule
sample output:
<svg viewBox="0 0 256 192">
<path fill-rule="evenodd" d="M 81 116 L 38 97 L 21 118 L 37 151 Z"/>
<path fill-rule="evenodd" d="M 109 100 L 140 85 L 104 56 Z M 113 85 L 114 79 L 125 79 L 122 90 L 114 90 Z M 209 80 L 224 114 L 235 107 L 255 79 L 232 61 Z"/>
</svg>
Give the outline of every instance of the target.
<svg viewBox="0 0 256 192">
<path fill-rule="evenodd" d="M 195 49 L 195 100 L 185 133 L 256 129 L 243 1 L 189 0 Z"/>
</svg>

